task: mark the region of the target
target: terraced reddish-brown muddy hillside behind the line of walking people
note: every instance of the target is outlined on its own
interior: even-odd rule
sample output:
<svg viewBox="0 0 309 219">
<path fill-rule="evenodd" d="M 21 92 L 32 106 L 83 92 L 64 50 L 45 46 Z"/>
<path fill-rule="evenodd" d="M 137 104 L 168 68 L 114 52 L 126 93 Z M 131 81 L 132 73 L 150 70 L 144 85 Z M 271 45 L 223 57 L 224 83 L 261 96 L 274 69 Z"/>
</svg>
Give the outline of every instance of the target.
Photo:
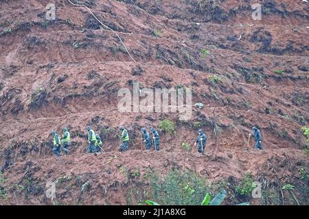
<svg viewBox="0 0 309 219">
<path fill-rule="evenodd" d="M 0 0 L 1 205 L 199 205 L 222 188 L 225 205 L 309 204 L 309 3 L 53 2 L 50 19 L 49 0 Z M 117 92 L 134 83 L 192 88 L 192 117 L 119 112 Z M 103 153 L 86 153 L 87 125 Z M 253 126 L 263 151 L 248 143 Z M 62 136 L 63 127 L 70 153 L 56 157 L 50 133 Z M 142 127 L 159 131 L 161 151 L 146 151 Z M 207 134 L 205 155 L 194 146 L 198 129 Z M 53 200 L 47 182 L 56 183 Z M 165 185 L 194 198 L 177 202 Z"/>
</svg>

